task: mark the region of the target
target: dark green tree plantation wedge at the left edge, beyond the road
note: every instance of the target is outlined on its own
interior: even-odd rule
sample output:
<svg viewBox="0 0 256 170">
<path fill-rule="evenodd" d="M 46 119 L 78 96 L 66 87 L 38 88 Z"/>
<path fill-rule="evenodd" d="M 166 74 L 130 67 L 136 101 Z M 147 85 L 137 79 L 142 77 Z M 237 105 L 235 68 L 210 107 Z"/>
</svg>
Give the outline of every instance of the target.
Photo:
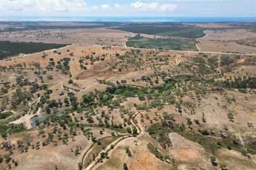
<svg viewBox="0 0 256 170">
<path fill-rule="evenodd" d="M 0 41 L 0 60 L 19 54 L 31 54 L 47 49 L 65 47 L 65 44 Z"/>
</svg>

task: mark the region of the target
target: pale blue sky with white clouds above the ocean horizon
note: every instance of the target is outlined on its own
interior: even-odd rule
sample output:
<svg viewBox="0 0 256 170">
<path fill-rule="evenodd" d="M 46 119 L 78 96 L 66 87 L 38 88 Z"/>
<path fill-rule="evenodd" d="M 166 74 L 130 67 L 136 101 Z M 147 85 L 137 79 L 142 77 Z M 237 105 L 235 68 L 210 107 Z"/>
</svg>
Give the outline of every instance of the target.
<svg viewBox="0 0 256 170">
<path fill-rule="evenodd" d="M 256 0 L 0 0 L 1 16 L 256 17 Z"/>
</svg>

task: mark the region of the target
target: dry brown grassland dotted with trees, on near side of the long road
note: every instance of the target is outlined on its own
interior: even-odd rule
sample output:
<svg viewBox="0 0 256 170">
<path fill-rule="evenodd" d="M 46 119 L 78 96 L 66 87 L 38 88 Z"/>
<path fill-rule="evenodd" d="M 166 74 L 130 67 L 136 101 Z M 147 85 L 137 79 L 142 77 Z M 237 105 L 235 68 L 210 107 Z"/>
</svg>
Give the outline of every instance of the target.
<svg viewBox="0 0 256 170">
<path fill-rule="evenodd" d="M 109 159 L 104 158 L 102 163 L 96 164 L 93 169 L 122 169 L 124 163 L 129 169 L 219 169 L 221 162 L 226 163 L 228 169 L 255 168 L 255 88 L 217 84 L 217 80 L 234 80 L 233 76 L 240 76 L 241 79 L 255 77 L 255 56 L 174 53 L 97 46 L 69 46 L 56 52 L 48 51 L 0 62 L 1 80 L 10 82 L 7 92 L 1 90 L 1 106 L 6 107 L 4 110 L 13 111 L 10 117 L 0 120 L 0 123 L 9 123 L 23 116 L 33 115 L 40 110 L 39 107 L 39 114 L 47 112 L 50 101 L 39 105 L 40 99 L 46 93 L 42 89 L 33 93 L 30 100 L 16 108 L 10 102 L 5 104 L 3 96 L 11 97 L 17 88 L 30 92 L 31 85 L 19 85 L 17 77 L 29 82 L 37 80 L 39 86 L 47 85 L 48 90 L 52 90 L 49 100 L 60 100 L 63 103 L 62 107 L 51 107 L 50 112 L 65 110 L 61 119 L 68 119 L 67 129 L 60 126 L 61 120 L 54 122 L 58 119 L 56 116 L 30 130 L 8 133 L 6 137 L 1 138 L 0 142 L 10 141 L 16 146 L 11 149 L 13 153 L 3 148 L 0 154 L 10 153 L 11 158 L 18 161 L 16 167 L 14 161 L 6 164 L 4 158 L 0 164 L 2 168 L 8 168 L 10 164 L 12 169 L 54 169 L 55 166 L 58 169 L 76 169 L 77 163 L 83 157 L 82 154 L 75 155 L 77 146 L 79 152 L 84 153 L 93 143 L 93 137 L 99 139 L 127 134 L 126 128 L 132 129 L 132 122 L 137 122 L 141 129 L 140 134 L 119 142 L 109 151 Z M 43 55 L 45 57 L 42 57 Z M 58 62 L 63 63 L 62 60 L 66 57 L 70 58 L 67 74 L 56 68 Z M 80 60 L 86 69 L 81 68 Z M 55 65 L 51 69 L 49 62 L 52 61 Z M 40 64 L 40 68 L 35 63 Z M 46 72 L 43 73 L 44 71 Z M 52 78 L 48 78 L 49 76 Z M 86 88 L 69 84 L 69 79 Z M 129 92 L 144 89 L 147 93 L 143 93 L 141 97 L 137 91 L 134 95 L 127 95 L 129 92 L 126 92 L 126 95 L 121 92 L 102 92 L 108 86 L 118 87 L 120 84 L 134 87 L 130 88 Z M 166 84 L 169 86 L 160 88 Z M 63 90 L 63 85 L 80 90 L 70 90 L 75 92 L 79 109 L 64 104 L 68 92 Z M 1 84 L 1 87 L 6 85 Z M 64 95 L 60 96 L 60 92 Z M 118 104 L 101 103 L 101 92 L 104 100 L 117 101 Z M 92 95 L 93 104 L 83 106 L 86 103 L 82 100 L 83 94 Z M 106 99 L 109 96 L 111 98 Z M 31 106 L 32 104 L 35 106 Z M 143 111 L 132 120 L 131 115 L 138 110 Z M 232 113 L 233 119 L 230 120 L 228 113 Z M 91 120 L 88 120 L 89 116 Z M 188 118 L 191 124 L 188 124 Z M 102 122 L 105 124 L 98 127 Z M 156 125 L 160 128 L 152 130 Z M 60 132 L 53 134 L 53 141 L 56 141 L 57 145 L 54 146 L 55 142 L 49 142 L 48 145 L 42 146 L 54 126 L 60 128 Z M 82 130 L 82 127 L 91 130 Z M 45 137 L 39 135 L 41 129 L 45 131 Z M 207 130 L 208 134 L 203 134 L 202 130 Z M 65 132 L 68 142 L 62 144 L 58 135 L 63 137 Z M 23 141 L 23 147 L 18 148 L 18 140 Z M 236 144 L 232 144 L 232 140 Z M 32 149 L 30 145 L 27 152 L 20 153 L 27 142 L 31 145 L 40 142 L 40 149 Z M 217 145 L 217 142 L 220 143 Z M 227 149 L 229 145 L 231 148 Z M 129 146 L 130 157 L 125 146 Z M 98 146 L 95 149 L 96 153 L 101 151 L 99 148 Z M 244 156 L 242 152 L 246 149 L 251 153 L 245 153 Z M 216 157 L 216 166 L 211 164 L 210 156 Z M 88 159 L 88 155 L 85 159 Z"/>
</svg>

